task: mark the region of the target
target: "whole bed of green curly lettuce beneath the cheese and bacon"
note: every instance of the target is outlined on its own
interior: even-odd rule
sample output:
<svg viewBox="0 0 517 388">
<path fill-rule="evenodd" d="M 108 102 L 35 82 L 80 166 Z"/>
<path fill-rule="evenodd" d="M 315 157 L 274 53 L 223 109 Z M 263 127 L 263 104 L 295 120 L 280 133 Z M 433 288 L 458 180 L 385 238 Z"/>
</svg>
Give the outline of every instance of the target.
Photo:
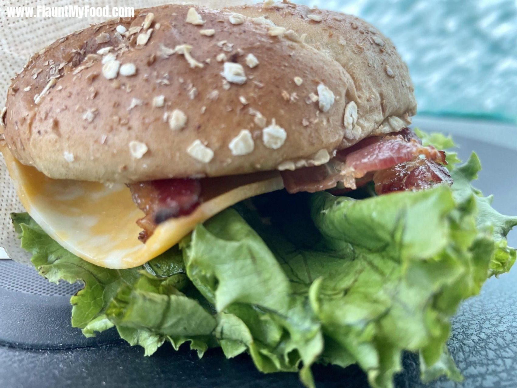
<svg viewBox="0 0 517 388">
<path fill-rule="evenodd" d="M 473 155 L 451 188 L 362 200 L 256 197 L 131 270 L 89 264 L 27 214 L 12 217 L 43 276 L 85 283 L 71 299 L 85 335 L 115 326 L 146 354 L 165 341 L 200 356 L 220 346 L 263 372 L 299 371 L 306 386 L 322 362 L 357 363 L 372 386 L 390 387 L 404 350 L 419 354 L 423 380 L 459 380 L 445 346 L 450 317 L 515 261 L 505 237 L 517 218 L 470 185 L 479 169 Z"/>
</svg>

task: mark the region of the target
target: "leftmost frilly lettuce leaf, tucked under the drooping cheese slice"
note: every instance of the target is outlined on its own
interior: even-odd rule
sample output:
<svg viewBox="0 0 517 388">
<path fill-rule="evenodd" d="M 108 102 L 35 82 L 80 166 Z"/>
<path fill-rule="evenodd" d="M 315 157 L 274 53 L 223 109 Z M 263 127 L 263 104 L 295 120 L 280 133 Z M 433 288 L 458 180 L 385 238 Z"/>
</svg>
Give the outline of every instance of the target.
<svg viewBox="0 0 517 388">
<path fill-rule="evenodd" d="M 72 326 L 82 329 L 87 337 L 93 337 L 96 332 L 113 327 L 117 320 L 116 316 L 109 314 L 108 307 L 121 299 L 128 285 L 139 286 L 137 281 L 142 276 L 140 268 L 110 270 L 88 263 L 52 240 L 27 213 L 13 213 L 11 218 L 14 228 L 20 235 L 22 248 L 33 254 L 32 263 L 40 275 L 55 283 L 59 280 L 84 283 L 83 289 L 70 299 Z M 172 250 L 155 260 L 158 263 L 178 263 L 177 255 L 178 251 Z M 179 259 L 183 271 L 179 271 L 174 277 L 178 287 L 184 285 L 186 279 L 186 275 L 180 274 L 185 272 L 185 266 L 181 256 Z M 156 267 L 153 262 L 154 260 L 150 264 Z M 157 335 L 149 328 L 135 328 L 131 327 L 134 325 L 123 325 L 125 322 L 118 323 L 116 328 L 121 338 L 131 345 L 143 346 L 146 355 L 154 353 L 164 342 L 162 335 Z"/>
</svg>

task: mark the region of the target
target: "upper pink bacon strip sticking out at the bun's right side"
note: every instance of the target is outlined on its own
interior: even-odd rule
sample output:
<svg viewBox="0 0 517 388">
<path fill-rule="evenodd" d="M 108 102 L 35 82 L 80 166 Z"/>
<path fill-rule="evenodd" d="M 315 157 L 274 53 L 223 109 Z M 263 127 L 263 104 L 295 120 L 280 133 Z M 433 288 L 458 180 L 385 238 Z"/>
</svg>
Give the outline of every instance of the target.
<svg viewBox="0 0 517 388">
<path fill-rule="evenodd" d="M 366 138 L 352 147 L 338 152 L 324 166 L 282 171 L 285 188 L 290 193 L 321 191 L 342 182 L 355 189 L 356 180 L 368 173 L 390 169 L 423 155 L 425 159 L 446 164 L 445 152 L 433 146 L 424 147 L 409 128 L 386 136 Z M 362 180 L 361 180 L 362 182 Z"/>
</svg>

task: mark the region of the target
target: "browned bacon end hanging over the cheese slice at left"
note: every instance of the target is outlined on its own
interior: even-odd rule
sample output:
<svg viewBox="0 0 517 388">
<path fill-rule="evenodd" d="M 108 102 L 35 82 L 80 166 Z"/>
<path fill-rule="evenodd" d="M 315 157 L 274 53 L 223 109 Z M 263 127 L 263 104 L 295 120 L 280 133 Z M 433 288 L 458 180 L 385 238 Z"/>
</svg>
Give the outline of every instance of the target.
<svg viewBox="0 0 517 388">
<path fill-rule="evenodd" d="M 129 185 L 133 201 L 145 213 L 136 223 L 143 229 L 139 240 L 147 238 L 156 226 L 172 217 L 192 213 L 200 204 L 201 183 L 195 179 L 164 179 Z"/>
</svg>

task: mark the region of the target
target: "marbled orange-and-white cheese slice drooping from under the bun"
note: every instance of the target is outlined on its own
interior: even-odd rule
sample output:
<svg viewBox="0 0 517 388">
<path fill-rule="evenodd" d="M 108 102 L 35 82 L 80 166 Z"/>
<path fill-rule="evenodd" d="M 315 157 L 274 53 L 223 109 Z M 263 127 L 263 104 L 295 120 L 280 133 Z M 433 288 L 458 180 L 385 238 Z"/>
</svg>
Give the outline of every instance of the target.
<svg viewBox="0 0 517 388">
<path fill-rule="evenodd" d="M 41 228 L 74 255 L 108 268 L 142 265 L 226 207 L 283 188 L 278 172 L 250 174 L 244 184 L 242 179 L 226 179 L 224 188 L 215 190 L 215 195 L 190 215 L 160 223 L 142 244 L 136 220 L 144 213 L 125 185 L 53 180 L 34 167 L 22 165 L 7 146 L 0 146 L 0 151 L 23 206 Z"/>
</svg>

